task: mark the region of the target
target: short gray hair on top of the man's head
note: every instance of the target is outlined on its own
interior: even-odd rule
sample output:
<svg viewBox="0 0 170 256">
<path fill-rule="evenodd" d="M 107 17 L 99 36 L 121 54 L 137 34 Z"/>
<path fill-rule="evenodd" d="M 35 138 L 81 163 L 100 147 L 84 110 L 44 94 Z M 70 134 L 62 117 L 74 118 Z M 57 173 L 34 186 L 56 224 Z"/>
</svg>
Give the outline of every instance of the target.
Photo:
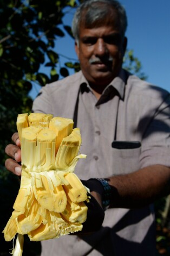
<svg viewBox="0 0 170 256">
<path fill-rule="evenodd" d="M 87 0 L 84 1 L 76 10 L 72 32 L 75 40 L 79 41 L 80 23 L 83 22 L 86 28 L 103 24 L 103 20 L 108 20 L 110 15 L 113 15 L 113 10 L 116 10 L 122 37 L 125 36 L 127 29 L 127 16 L 125 8 L 116 0 Z"/>
</svg>

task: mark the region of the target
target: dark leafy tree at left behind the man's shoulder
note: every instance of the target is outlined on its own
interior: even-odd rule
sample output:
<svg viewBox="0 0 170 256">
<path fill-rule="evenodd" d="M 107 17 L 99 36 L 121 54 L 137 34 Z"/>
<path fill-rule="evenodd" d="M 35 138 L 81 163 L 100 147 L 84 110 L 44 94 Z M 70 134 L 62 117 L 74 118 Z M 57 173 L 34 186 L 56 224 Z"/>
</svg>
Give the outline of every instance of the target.
<svg viewBox="0 0 170 256">
<path fill-rule="evenodd" d="M 58 79 L 58 54 L 55 40 L 69 31 L 62 24 L 64 7 L 73 8 L 75 0 L 1 0 L 0 1 L 0 159 L 4 145 L 16 130 L 18 113 L 30 113 L 28 97 L 32 82 L 44 85 Z M 41 65 L 51 67 L 49 76 L 40 73 Z M 67 75 L 66 68 L 61 68 Z M 3 167 L 3 165 L 1 165 Z"/>
</svg>

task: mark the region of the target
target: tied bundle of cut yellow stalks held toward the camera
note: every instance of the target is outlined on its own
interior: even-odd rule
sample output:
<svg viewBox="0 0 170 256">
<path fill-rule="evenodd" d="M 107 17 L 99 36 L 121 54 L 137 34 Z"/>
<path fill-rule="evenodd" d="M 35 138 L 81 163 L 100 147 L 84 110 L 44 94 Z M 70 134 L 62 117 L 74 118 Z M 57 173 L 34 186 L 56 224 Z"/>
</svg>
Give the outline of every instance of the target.
<svg viewBox="0 0 170 256">
<path fill-rule="evenodd" d="M 13 255 L 22 255 L 25 234 L 31 241 L 58 238 L 82 230 L 86 221 L 87 188 L 74 172 L 80 129 L 73 120 L 50 114 L 18 114 L 21 140 L 21 185 L 14 211 L 3 233 L 10 241 L 18 233 Z"/>
</svg>

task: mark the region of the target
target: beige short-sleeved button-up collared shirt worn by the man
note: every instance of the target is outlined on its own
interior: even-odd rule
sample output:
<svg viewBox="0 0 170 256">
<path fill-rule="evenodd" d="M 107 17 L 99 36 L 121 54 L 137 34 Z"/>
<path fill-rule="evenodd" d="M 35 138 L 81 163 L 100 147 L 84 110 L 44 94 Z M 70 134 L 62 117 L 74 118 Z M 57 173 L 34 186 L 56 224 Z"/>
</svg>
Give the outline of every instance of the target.
<svg viewBox="0 0 170 256">
<path fill-rule="evenodd" d="M 121 70 L 97 101 L 82 72 L 44 86 L 33 110 L 73 118 L 77 93 L 77 127 L 81 130 L 81 179 L 130 173 L 154 164 L 170 166 L 169 93 Z M 124 149 L 112 142 L 123 141 Z M 127 141 L 132 148 L 128 149 Z M 134 141 L 141 146 L 135 148 Z M 93 223 L 92 223 L 93 224 Z M 108 209 L 94 235 L 62 236 L 42 242 L 42 256 L 155 255 L 153 207 Z"/>
</svg>

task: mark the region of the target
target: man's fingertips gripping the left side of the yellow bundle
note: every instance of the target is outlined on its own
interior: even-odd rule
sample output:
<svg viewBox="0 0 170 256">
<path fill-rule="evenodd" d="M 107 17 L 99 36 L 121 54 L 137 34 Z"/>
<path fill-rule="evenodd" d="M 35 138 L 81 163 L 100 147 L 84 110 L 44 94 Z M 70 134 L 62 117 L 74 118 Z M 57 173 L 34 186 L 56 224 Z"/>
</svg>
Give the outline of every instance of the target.
<svg viewBox="0 0 170 256">
<path fill-rule="evenodd" d="M 18 138 L 18 133 L 12 135 L 12 141 L 14 144 L 9 144 L 5 147 L 5 153 L 10 157 L 5 161 L 5 167 L 10 172 L 13 172 L 17 176 L 21 176 L 21 143 Z"/>
</svg>

